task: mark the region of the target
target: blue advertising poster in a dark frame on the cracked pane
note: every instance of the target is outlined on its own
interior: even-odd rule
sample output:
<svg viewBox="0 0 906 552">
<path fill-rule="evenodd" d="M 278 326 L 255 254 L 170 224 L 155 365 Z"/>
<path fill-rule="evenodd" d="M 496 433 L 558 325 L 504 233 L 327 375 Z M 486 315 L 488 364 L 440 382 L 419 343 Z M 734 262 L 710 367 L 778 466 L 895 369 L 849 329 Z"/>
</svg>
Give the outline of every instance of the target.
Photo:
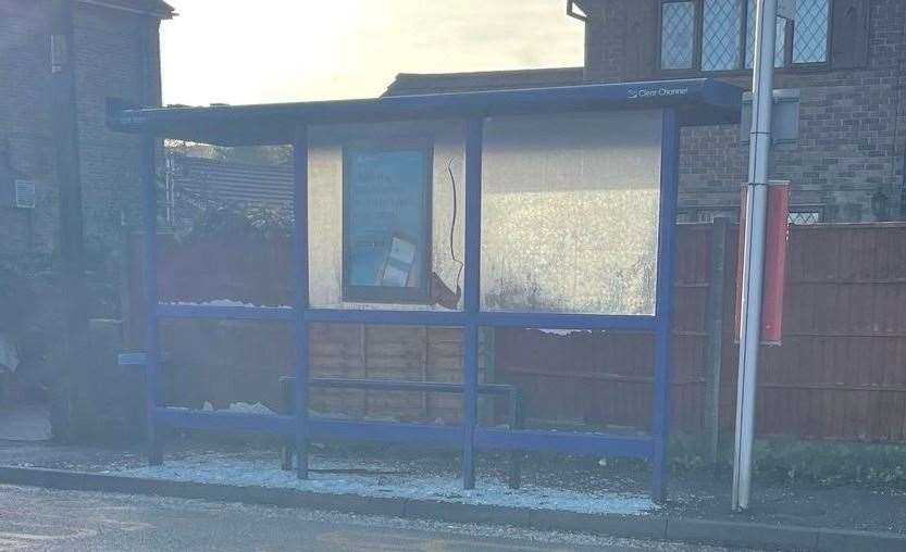
<svg viewBox="0 0 906 552">
<path fill-rule="evenodd" d="M 418 141 L 344 149 L 345 301 L 429 301 L 432 160 Z"/>
</svg>

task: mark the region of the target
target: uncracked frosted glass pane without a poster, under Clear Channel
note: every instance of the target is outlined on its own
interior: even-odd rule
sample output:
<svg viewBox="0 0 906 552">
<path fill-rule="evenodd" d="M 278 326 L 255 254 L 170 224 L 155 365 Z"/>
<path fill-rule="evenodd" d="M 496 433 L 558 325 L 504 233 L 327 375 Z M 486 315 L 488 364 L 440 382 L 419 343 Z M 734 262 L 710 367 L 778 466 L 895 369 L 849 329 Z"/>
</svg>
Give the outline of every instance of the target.
<svg viewBox="0 0 906 552">
<path fill-rule="evenodd" d="M 661 117 L 486 122 L 483 310 L 654 313 Z"/>
</svg>

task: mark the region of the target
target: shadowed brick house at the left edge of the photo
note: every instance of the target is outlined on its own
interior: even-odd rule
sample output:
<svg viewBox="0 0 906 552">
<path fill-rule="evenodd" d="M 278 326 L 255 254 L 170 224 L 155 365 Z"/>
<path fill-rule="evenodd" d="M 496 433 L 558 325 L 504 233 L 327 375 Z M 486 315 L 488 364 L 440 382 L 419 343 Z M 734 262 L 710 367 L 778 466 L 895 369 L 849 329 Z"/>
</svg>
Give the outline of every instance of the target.
<svg viewBox="0 0 906 552">
<path fill-rule="evenodd" d="M 138 140 L 106 127 L 106 98 L 161 102 L 161 0 L 77 0 L 74 53 L 86 241 L 137 216 Z M 59 231 L 50 115 L 50 0 L 0 0 L 0 255 L 52 252 Z"/>
</svg>

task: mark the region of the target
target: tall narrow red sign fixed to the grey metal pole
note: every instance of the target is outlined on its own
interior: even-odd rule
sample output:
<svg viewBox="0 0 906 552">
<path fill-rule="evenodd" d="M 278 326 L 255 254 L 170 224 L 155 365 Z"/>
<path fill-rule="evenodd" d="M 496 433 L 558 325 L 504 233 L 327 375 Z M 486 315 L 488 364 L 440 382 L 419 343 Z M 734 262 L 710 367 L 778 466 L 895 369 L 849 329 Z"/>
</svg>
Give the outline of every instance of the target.
<svg viewBox="0 0 906 552">
<path fill-rule="evenodd" d="M 743 186 L 746 204 L 748 186 Z M 736 263 L 736 327 L 742 329 L 743 252 L 745 248 L 746 215 L 740 219 L 740 250 Z M 765 231 L 765 275 L 761 291 L 761 344 L 779 346 L 783 337 L 783 291 L 786 286 L 786 250 L 790 237 L 790 183 L 772 180 L 768 186 L 768 216 Z"/>
</svg>

